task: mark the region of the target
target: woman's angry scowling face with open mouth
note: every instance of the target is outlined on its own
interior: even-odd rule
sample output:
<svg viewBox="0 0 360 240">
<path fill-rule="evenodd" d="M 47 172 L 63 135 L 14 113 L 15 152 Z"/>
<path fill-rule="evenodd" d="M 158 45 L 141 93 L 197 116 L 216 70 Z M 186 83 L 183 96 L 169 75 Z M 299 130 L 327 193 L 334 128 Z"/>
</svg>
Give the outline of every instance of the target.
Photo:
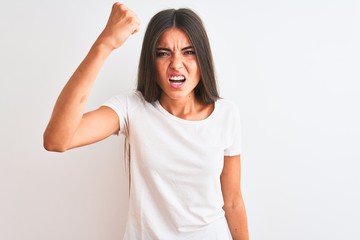
<svg viewBox="0 0 360 240">
<path fill-rule="evenodd" d="M 195 49 L 184 31 L 169 28 L 163 33 L 156 46 L 155 64 L 162 100 L 194 98 L 200 72 Z"/>
</svg>

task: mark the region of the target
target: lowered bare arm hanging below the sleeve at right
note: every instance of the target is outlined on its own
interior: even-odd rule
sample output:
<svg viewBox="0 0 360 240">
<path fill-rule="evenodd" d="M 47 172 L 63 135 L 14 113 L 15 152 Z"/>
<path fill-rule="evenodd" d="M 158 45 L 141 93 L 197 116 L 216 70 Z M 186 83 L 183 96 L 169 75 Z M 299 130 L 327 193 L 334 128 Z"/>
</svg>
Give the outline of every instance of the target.
<svg viewBox="0 0 360 240">
<path fill-rule="evenodd" d="M 226 220 L 234 240 L 248 240 L 249 233 L 245 204 L 241 194 L 240 172 L 240 155 L 224 157 L 221 189 Z"/>
</svg>

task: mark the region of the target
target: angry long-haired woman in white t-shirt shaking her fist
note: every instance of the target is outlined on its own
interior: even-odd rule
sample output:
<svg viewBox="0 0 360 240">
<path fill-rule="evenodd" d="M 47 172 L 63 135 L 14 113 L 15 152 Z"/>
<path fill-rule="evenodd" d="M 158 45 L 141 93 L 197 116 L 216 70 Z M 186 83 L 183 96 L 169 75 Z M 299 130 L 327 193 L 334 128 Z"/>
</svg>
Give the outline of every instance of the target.
<svg viewBox="0 0 360 240">
<path fill-rule="evenodd" d="M 126 6 L 113 5 L 56 102 L 45 148 L 63 152 L 125 134 L 131 185 L 124 239 L 248 239 L 239 115 L 218 96 L 209 42 L 194 12 L 156 14 L 144 37 L 137 91 L 83 114 L 104 61 L 139 25 Z"/>
</svg>

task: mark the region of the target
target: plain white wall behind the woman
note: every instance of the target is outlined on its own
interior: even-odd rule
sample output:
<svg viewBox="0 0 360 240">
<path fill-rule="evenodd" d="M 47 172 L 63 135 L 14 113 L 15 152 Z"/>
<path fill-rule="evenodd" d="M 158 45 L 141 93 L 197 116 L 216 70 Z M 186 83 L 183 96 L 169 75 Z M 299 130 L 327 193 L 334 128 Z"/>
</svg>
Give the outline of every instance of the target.
<svg viewBox="0 0 360 240">
<path fill-rule="evenodd" d="M 154 13 L 191 7 L 208 30 L 221 95 L 242 114 L 251 239 L 360 239 L 359 1 L 124 2 L 142 29 L 108 59 L 88 109 L 134 89 Z M 0 239 L 121 239 L 123 139 L 42 148 L 57 95 L 112 4 L 0 3 Z"/>
</svg>

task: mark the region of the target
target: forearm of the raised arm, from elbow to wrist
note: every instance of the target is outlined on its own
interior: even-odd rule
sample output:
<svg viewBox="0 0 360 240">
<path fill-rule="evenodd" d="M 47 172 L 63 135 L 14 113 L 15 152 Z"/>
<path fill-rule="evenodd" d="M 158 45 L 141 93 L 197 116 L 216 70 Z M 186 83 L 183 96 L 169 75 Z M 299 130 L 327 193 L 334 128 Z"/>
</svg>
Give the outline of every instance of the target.
<svg viewBox="0 0 360 240">
<path fill-rule="evenodd" d="M 57 99 L 45 130 L 45 148 L 56 151 L 67 149 L 82 119 L 95 78 L 110 53 L 110 48 L 96 41 L 73 73 Z"/>
</svg>

